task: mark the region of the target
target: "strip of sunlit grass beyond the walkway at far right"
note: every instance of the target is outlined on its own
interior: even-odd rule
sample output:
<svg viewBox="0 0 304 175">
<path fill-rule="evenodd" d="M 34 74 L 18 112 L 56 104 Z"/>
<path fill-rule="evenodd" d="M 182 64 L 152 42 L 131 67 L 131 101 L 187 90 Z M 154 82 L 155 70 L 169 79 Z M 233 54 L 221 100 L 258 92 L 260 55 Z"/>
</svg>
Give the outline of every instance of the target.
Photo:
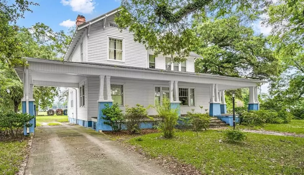
<svg viewBox="0 0 304 175">
<path fill-rule="evenodd" d="M 265 124 L 248 129 L 264 129 L 266 131 L 290 132 L 296 134 L 304 134 L 304 120 L 292 120 L 288 124 Z"/>
</svg>

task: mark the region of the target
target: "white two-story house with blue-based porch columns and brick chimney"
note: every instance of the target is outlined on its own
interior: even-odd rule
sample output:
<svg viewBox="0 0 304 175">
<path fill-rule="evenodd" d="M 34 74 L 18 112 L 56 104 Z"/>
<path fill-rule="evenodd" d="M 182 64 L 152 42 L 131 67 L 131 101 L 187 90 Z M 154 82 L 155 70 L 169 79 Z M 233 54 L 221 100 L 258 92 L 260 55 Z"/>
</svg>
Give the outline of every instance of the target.
<svg viewBox="0 0 304 175">
<path fill-rule="evenodd" d="M 203 58 L 194 52 L 181 63 L 172 62 L 171 55 L 155 56 L 134 41 L 128 28 L 119 31 L 116 13 L 118 9 L 89 21 L 78 15 L 63 62 L 27 58 L 28 67 L 16 68 L 25 91 L 29 86 L 29 98 L 33 85 L 69 87 L 69 121 L 97 131 L 110 130 L 100 119 L 106 103 L 124 110 L 162 105 L 168 98 L 180 115 L 200 112 L 203 106 L 211 116 L 221 116 L 226 113 L 225 90 L 248 87 L 249 108 L 258 109 L 257 85 L 263 81 L 195 73 L 195 60 Z M 154 108 L 148 112 L 157 115 Z"/>
</svg>

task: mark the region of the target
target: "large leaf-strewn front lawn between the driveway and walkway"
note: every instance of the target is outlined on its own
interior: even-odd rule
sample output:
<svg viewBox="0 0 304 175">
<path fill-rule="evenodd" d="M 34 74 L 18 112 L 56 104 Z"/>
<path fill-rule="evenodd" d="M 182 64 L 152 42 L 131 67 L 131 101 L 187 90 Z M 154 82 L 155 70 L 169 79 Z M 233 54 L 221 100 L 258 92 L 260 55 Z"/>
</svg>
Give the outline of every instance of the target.
<svg viewBox="0 0 304 175">
<path fill-rule="evenodd" d="M 199 137 L 192 131 L 177 132 L 174 139 L 160 133 L 135 137 L 128 142 L 141 146 L 152 157 L 173 156 L 194 165 L 203 174 L 302 174 L 304 138 L 247 133 L 242 144 L 220 143 L 223 132 L 208 130 Z M 212 173 L 213 172 L 213 173 Z"/>
</svg>

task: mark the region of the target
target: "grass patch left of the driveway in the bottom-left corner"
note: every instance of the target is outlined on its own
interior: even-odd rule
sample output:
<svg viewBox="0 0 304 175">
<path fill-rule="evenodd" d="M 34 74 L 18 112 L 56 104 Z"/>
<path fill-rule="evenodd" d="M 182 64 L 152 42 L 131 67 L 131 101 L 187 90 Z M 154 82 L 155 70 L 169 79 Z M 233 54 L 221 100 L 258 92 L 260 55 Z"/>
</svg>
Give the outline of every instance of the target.
<svg viewBox="0 0 304 175">
<path fill-rule="evenodd" d="M 0 174 L 14 175 L 26 154 L 27 141 L 0 142 Z"/>
</svg>

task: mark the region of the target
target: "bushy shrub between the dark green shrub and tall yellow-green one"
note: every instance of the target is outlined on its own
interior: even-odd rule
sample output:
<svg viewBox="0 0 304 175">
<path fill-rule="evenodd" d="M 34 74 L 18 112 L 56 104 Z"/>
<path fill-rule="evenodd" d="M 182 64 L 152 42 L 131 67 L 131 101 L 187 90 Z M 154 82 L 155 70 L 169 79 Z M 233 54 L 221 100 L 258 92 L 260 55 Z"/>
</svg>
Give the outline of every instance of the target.
<svg viewBox="0 0 304 175">
<path fill-rule="evenodd" d="M 136 104 L 136 107 L 127 107 L 125 118 L 126 127 L 129 134 L 140 133 L 141 123 L 144 123 L 146 119 L 153 120 L 152 117 L 148 116 L 147 109 L 140 104 Z"/>
</svg>

